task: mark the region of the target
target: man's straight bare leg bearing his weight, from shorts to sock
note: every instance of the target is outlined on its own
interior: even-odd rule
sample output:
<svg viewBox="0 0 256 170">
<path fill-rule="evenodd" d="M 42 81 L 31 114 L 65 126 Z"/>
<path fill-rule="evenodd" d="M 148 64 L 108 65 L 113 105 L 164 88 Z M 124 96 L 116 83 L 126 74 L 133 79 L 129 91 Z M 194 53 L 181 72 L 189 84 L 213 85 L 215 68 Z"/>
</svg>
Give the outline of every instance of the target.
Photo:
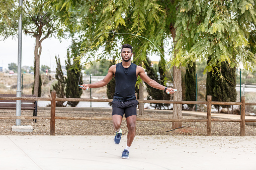
<svg viewBox="0 0 256 170">
<path fill-rule="evenodd" d="M 131 146 L 136 133 L 136 115 L 132 115 L 126 118 L 128 134 L 127 134 L 127 146 Z"/>
</svg>

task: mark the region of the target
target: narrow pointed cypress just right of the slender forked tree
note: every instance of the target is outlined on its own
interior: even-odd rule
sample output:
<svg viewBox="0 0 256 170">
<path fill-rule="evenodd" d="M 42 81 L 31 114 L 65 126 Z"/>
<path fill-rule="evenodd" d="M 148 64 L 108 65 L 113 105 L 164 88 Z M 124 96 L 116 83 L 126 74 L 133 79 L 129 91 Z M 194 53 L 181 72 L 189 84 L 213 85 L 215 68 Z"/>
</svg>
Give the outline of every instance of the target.
<svg viewBox="0 0 256 170">
<path fill-rule="evenodd" d="M 60 65 L 60 59 L 59 57 L 57 58 L 57 56 L 55 56 L 56 59 L 56 74 L 55 74 L 55 78 L 58 80 L 58 82 L 53 85 L 53 90 L 56 91 L 57 97 L 59 98 L 64 98 L 65 97 L 65 78 L 61 69 L 61 65 Z M 56 101 L 56 106 L 63 106 L 63 101 Z"/>
</svg>

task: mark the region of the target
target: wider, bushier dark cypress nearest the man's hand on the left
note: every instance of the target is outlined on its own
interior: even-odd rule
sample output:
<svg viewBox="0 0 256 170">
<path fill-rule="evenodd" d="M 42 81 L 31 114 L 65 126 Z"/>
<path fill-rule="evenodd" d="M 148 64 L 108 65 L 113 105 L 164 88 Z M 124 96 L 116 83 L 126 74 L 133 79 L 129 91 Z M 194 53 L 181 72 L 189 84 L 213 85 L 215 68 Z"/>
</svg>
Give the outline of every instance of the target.
<svg viewBox="0 0 256 170">
<path fill-rule="evenodd" d="M 78 86 L 78 80 L 80 76 L 80 71 L 81 71 L 81 65 L 79 62 L 75 62 L 74 59 L 75 57 L 78 56 L 79 52 L 79 47 L 77 47 L 77 44 L 72 43 L 71 45 L 71 55 L 72 57 L 69 57 L 69 51 L 67 51 L 67 60 L 65 61 L 66 63 L 66 70 L 67 70 L 67 78 L 65 78 L 66 82 L 66 97 L 67 98 L 80 98 L 82 94 L 82 90 Z M 71 58 L 73 60 L 74 64 L 71 64 Z M 82 77 L 80 78 L 79 84 L 82 84 Z M 67 104 L 70 105 L 71 107 L 75 107 L 79 102 L 72 102 L 68 101 Z"/>
</svg>

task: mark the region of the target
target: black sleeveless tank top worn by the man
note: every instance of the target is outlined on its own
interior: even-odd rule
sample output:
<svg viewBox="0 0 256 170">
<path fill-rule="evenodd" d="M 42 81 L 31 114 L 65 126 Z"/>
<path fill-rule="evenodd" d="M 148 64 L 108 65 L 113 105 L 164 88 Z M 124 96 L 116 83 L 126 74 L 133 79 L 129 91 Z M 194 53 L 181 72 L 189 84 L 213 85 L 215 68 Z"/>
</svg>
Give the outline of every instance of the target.
<svg viewBox="0 0 256 170">
<path fill-rule="evenodd" d="M 130 67 L 124 68 L 122 63 L 116 64 L 116 89 L 113 101 L 135 100 L 135 84 L 137 80 L 137 65 L 131 63 Z"/>
</svg>

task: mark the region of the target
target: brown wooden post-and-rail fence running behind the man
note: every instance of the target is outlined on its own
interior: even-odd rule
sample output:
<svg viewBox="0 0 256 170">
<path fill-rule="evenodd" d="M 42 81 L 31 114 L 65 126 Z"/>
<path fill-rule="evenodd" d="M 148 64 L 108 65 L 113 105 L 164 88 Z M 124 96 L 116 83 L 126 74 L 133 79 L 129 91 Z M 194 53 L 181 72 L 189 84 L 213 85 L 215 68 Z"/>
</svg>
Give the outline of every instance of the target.
<svg viewBox="0 0 256 170">
<path fill-rule="evenodd" d="M 43 97 L 0 97 L 1 100 L 42 100 L 51 101 L 50 116 L 0 116 L 0 119 L 50 119 L 50 135 L 55 135 L 55 120 L 112 120 L 112 117 L 63 117 L 55 116 L 56 101 L 92 101 L 92 102 L 111 102 L 113 99 L 82 99 L 82 98 L 56 98 L 56 92 L 51 93 L 51 98 Z M 212 121 L 240 122 L 240 136 L 245 136 L 245 122 L 256 122 L 255 119 L 245 120 L 245 105 L 256 105 L 256 103 L 245 103 L 245 97 L 241 97 L 241 102 L 216 102 L 212 101 L 212 96 L 207 96 L 207 101 L 170 101 L 170 100 L 138 100 L 139 103 L 173 103 L 173 104 L 206 104 L 206 119 L 155 119 L 155 118 L 137 118 L 138 121 L 165 121 L 165 122 L 202 122 L 206 121 L 207 136 L 211 135 Z M 211 117 L 212 105 L 241 105 L 240 119 L 219 119 Z"/>
</svg>

